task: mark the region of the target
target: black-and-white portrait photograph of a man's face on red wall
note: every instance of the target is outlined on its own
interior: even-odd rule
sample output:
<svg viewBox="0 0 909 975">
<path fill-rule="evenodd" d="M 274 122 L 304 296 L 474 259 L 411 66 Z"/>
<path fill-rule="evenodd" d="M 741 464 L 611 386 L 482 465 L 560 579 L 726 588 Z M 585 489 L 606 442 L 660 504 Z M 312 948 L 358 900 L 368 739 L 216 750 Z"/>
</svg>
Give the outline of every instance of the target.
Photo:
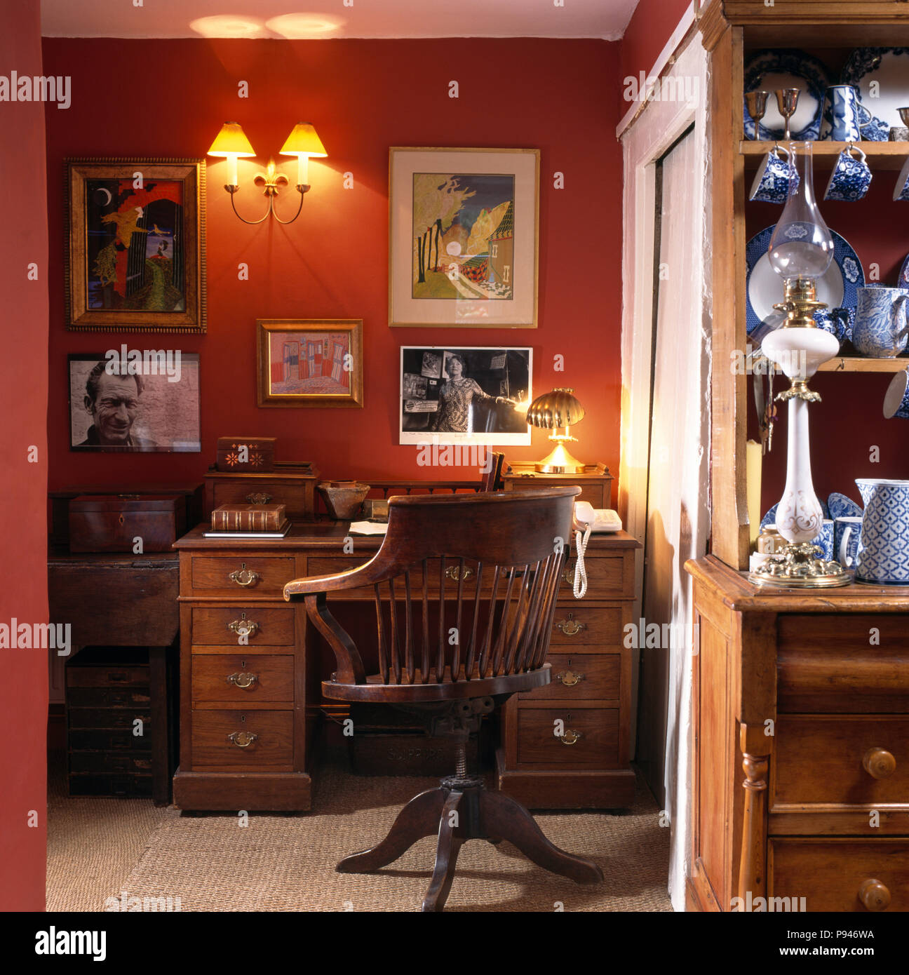
<svg viewBox="0 0 909 975">
<path fill-rule="evenodd" d="M 199 354 L 110 349 L 69 356 L 71 450 L 198 453 Z"/>
</svg>

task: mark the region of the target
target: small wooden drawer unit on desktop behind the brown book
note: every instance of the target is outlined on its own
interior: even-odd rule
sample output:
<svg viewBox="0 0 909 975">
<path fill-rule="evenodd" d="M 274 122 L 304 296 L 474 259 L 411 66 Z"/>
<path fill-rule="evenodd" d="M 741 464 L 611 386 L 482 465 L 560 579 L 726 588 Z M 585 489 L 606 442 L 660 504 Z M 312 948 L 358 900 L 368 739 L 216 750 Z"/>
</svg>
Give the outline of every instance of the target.
<svg viewBox="0 0 909 975">
<path fill-rule="evenodd" d="M 319 471 L 306 462 L 275 464 L 263 474 L 228 474 L 213 467 L 205 476 L 206 511 L 222 504 L 283 504 L 292 522 L 311 522 L 318 480 Z"/>
</svg>

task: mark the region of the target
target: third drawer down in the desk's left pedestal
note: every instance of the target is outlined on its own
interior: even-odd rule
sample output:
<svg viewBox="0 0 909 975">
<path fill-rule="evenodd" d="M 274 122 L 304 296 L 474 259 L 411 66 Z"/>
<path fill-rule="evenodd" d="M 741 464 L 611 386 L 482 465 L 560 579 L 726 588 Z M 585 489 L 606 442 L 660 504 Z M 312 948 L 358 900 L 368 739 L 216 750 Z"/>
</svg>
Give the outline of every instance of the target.
<svg viewBox="0 0 909 975">
<path fill-rule="evenodd" d="M 240 653 L 194 653 L 192 699 L 293 701 L 294 657 L 289 653 L 246 657 Z"/>
</svg>

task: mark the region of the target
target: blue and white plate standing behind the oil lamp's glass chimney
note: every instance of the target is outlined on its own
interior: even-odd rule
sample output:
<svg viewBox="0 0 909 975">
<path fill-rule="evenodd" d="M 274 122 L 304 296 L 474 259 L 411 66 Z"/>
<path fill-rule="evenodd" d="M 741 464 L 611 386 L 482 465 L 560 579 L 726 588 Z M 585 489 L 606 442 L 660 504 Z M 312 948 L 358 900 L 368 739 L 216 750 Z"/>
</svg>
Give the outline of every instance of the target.
<svg viewBox="0 0 909 975">
<path fill-rule="evenodd" d="M 774 310 L 773 305 L 783 299 L 783 280 L 771 267 L 768 256 L 775 226 L 774 223 L 765 227 L 748 241 L 745 248 L 748 267 L 746 328 L 749 335 L 762 322 L 779 318 L 779 312 Z M 817 300 L 823 301 L 828 308 L 850 309 L 854 315 L 858 306 L 856 289 L 864 287 L 865 272 L 849 241 L 835 230 L 830 232 L 833 234 L 833 260 L 827 273 L 817 280 Z"/>
</svg>

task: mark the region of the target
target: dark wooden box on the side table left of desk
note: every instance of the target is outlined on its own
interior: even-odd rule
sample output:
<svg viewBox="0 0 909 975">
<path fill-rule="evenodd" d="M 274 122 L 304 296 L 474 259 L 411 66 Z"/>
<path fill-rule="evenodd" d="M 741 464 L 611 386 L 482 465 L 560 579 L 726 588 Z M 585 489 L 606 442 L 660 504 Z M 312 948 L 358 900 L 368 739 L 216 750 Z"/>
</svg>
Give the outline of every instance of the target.
<svg viewBox="0 0 909 975">
<path fill-rule="evenodd" d="M 167 552 L 185 530 L 182 494 L 81 494 L 69 502 L 72 552 Z"/>
</svg>

